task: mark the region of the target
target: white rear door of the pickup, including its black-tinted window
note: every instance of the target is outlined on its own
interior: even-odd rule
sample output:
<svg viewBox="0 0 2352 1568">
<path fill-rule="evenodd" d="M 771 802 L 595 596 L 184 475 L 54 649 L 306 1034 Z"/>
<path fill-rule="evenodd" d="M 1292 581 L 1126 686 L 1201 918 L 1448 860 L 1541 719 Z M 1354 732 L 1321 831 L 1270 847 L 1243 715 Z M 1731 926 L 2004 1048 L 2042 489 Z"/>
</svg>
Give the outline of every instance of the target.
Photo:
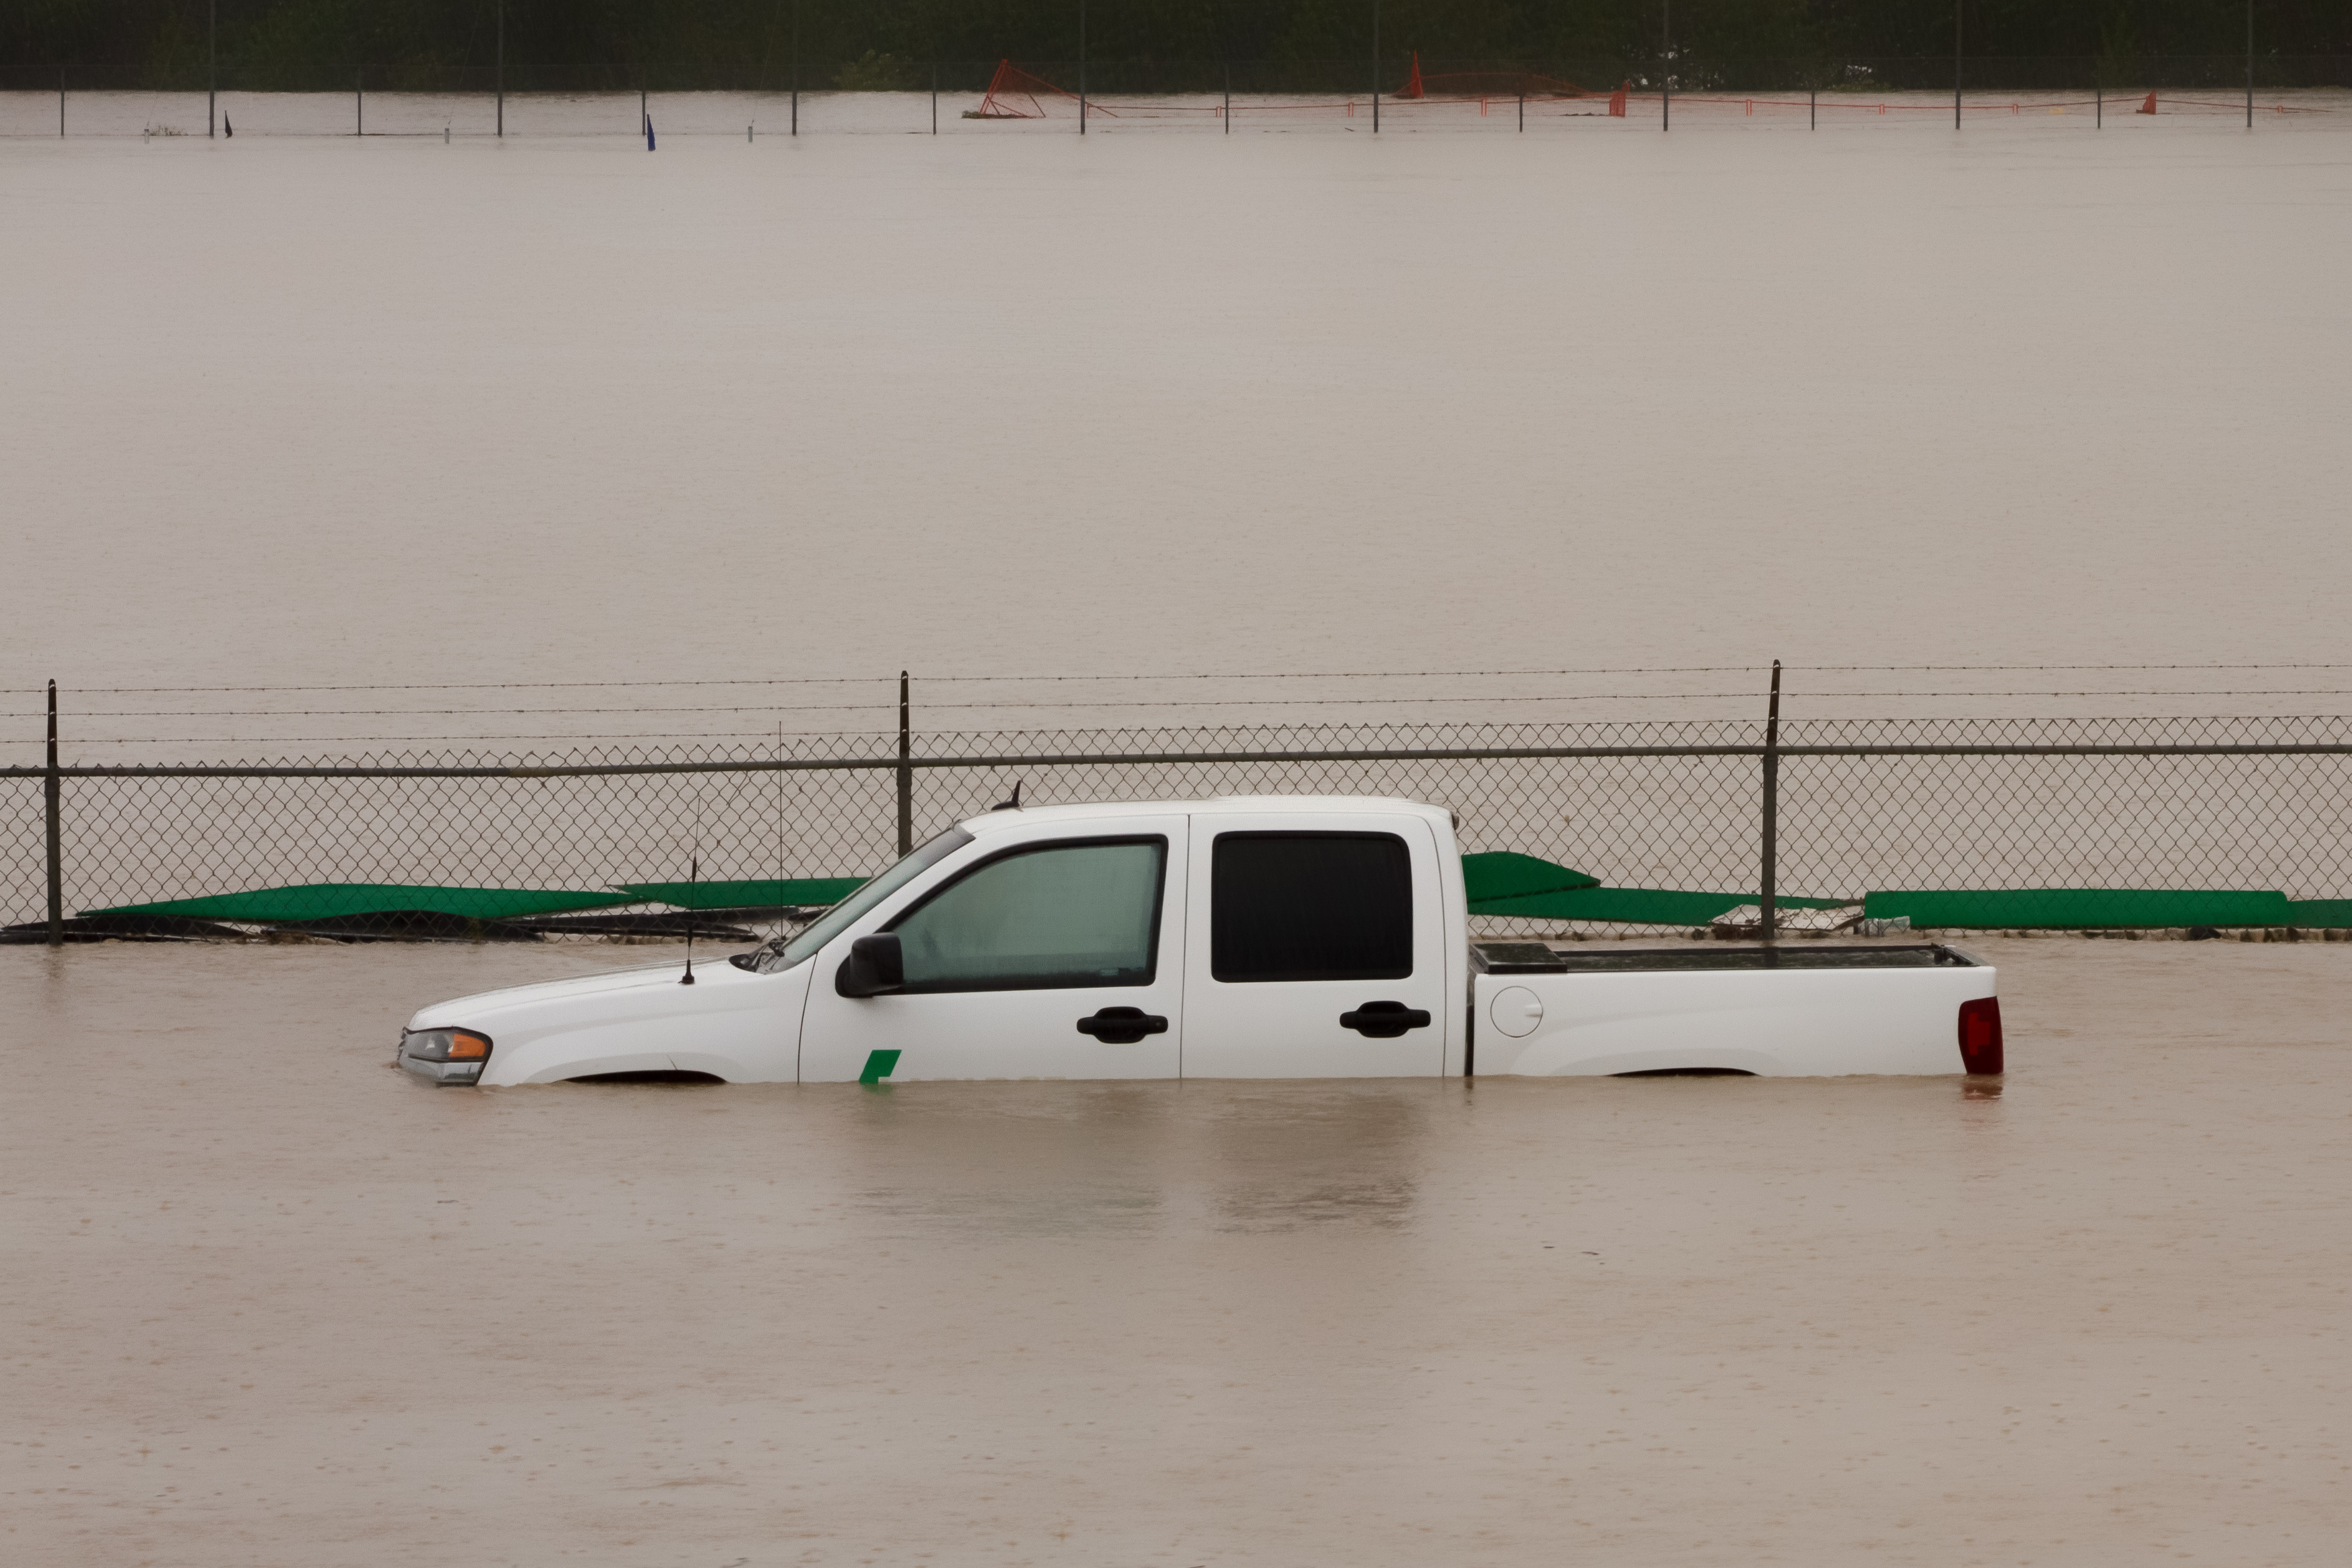
<svg viewBox="0 0 2352 1568">
<path fill-rule="evenodd" d="M 1437 839 L 1416 816 L 1192 818 L 1188 1079 L 1444 1072 Z"/>
</svg>

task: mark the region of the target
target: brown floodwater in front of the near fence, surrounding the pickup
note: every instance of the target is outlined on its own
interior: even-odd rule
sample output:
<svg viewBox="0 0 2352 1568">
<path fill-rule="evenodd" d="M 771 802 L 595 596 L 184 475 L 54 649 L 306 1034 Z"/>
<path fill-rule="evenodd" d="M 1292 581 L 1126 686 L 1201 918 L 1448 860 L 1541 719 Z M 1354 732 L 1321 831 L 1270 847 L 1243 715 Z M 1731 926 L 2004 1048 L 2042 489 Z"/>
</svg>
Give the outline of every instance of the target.
<svg viewBox="0 0 2352 1568">
<path fill-rule="evenodd" d="M 433 1091 L 642 954 L 0 952 L 19 1563 L 2324 1563 L 2343 947 L 2011 1074 Z"/>
</svg>

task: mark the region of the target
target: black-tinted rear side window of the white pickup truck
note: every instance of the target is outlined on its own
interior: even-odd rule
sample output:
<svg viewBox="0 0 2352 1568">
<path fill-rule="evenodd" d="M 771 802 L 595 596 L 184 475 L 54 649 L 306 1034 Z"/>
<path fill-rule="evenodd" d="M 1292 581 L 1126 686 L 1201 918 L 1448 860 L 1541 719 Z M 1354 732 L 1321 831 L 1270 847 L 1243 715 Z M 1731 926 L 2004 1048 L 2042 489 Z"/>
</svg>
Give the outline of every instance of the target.
<svg viewBox="0 0 2352 1568">
<path fill-rule="evenodd" d="M 1225 832 L 1209 860 L 1209 973 L 1402 980 L 1414 860 L 1392 832 Z"/>
</svg>

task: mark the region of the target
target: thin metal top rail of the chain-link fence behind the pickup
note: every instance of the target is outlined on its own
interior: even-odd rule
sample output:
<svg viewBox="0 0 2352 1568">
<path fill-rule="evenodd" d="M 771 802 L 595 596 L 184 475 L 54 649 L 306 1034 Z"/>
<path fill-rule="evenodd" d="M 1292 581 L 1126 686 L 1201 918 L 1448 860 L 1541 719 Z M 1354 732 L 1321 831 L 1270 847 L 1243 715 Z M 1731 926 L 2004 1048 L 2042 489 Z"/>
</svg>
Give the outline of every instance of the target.
<svg viewBox="0 0 2352 1568">
<path fill-rule="evenodd" d="M 626 773 L 851 773 L 891 769 L 1145 766 L 1171 762 L 1505 762 L 1543 757 L 2343 757 L 2352 743 L 2218 741 L 2178 745 L 1461 745 L 1197 752 L 1004 752 L 993 757 L 767 757 L 727 762 L 593 762 L 557 766 L 256 766 L 256 764 L 82 764 L 0 766 L 0 778 L 600 778 Z"/>
</svg>

